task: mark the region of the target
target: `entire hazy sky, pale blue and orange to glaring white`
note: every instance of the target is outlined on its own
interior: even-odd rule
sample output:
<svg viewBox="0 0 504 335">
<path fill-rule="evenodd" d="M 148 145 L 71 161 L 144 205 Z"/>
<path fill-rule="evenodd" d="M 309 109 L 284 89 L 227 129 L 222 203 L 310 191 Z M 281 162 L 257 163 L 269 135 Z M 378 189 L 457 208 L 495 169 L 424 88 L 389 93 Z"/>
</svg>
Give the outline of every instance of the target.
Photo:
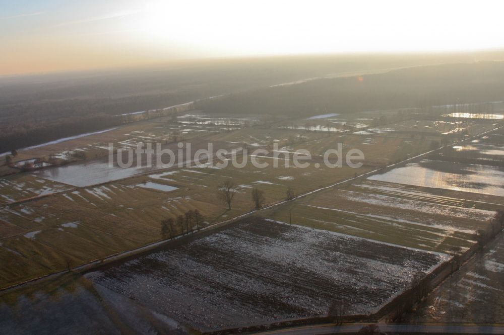
<svg viewBox="0 0 504 335">
<path fill-rule="evenodd" d="M 0 0 L 0 74 L 181 58 L 504 48 L 501 1 Z"/>
</svg>

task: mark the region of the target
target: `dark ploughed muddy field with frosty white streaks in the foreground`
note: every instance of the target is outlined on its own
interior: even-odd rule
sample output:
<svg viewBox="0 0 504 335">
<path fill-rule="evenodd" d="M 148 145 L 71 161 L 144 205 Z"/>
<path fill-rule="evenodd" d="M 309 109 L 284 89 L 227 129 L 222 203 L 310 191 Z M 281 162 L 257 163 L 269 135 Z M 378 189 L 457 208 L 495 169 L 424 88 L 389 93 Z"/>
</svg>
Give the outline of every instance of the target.
<svg viewBox="0 0 504 335">
<path fill-rule="evenodd" d="M 334 299 L 371 313 L 444 254 L 258 218 L 85 277 L 200 330 L 326 315 Z"/>
</svg>

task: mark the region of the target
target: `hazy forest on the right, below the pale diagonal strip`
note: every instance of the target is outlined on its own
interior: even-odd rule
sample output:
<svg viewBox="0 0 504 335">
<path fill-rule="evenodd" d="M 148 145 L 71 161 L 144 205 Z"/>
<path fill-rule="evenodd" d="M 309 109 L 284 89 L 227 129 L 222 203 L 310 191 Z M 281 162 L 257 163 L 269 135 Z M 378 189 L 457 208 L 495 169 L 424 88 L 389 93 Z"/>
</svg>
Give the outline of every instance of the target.
<svg viewBox="0 0 504 335">
<path fill-rule="evenodd" d="M 504 100 L 504 62 L 478 62 L 317 79 L 202 101 L 196 108 L 209 113 L 304 117 L 500 100 Z"/>
</svg>

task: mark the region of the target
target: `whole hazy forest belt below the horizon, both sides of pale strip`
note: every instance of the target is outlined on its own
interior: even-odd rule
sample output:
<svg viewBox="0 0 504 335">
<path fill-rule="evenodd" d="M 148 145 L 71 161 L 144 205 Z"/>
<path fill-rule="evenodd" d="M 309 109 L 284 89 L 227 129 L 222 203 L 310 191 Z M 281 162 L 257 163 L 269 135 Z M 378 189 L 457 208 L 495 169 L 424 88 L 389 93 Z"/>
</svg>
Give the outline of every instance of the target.
<svg viewBox="0 0 504 335">
<path fill-rule="evenodd" d="M 198 109 L 209 113 L 304 117 L 326 112 L 421 107 L 502 100 L 504 63 L 410 67 L 382 74 L 270 85 L 328 73 L 373 71 L 434 62 L 432 58 L 273 59 L 210 62 L 172 69 L 0 78 L 0 152 L 97 131 L 120 114 L 157 109 L 219 94 Z"/>
</svg>

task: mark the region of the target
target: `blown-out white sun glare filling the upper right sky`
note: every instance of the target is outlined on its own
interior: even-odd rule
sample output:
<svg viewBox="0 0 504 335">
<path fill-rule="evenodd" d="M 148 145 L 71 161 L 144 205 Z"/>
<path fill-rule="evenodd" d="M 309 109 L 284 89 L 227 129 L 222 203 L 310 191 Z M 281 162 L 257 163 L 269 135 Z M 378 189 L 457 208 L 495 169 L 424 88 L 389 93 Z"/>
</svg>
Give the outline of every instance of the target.
<svg viewBox="0 0 504 335">
<path fill-rule="evenodd" d="M 384 12 L 387 4 L 390 11 Z M 151 43 L 230 54 L 446 51 L 466 49 L 468 41 L 476 48 L 497 46 L 500 29 L 492 27 L 498 18 L 487 13 L 479 19 L 480 9 L 472 6 L 459 6 L 457 16 L 446 16 L 455 4 L 439 4 L 438 11 L 431 11 L 392 1 L 366 3 L 363 11 L 357 4 L 341 2 L 315 1 L 306 7 L 261 1 L 155 1 L 131 18 L 130 29 L 141 31 Z M 406 15 L 412 11 L 418 14 L 414 18 Z M 468 16 L 477 24 L 462 24 L 460 19 Z M 425 25 L 426 17 L 431 24 Z"/>
</svg>

